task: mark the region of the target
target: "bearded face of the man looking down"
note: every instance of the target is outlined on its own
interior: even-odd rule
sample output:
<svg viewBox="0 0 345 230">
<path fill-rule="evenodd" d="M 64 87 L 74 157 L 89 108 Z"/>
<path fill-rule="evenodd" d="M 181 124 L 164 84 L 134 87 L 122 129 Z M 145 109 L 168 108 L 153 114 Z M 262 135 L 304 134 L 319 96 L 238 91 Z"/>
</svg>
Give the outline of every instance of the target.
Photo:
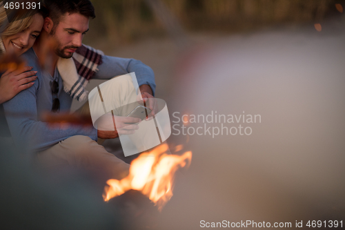
<svg viewBox="0 0 345 230">
<path fill-rule="evenodd" d="M 50 35 L 55 40 L 55 53 L 59 57 L 70 58 L 81 46 L 83 35 L 88 31 L 88 17 L 79 13 L 63 15 L 60 23 Z"/>
</svg>

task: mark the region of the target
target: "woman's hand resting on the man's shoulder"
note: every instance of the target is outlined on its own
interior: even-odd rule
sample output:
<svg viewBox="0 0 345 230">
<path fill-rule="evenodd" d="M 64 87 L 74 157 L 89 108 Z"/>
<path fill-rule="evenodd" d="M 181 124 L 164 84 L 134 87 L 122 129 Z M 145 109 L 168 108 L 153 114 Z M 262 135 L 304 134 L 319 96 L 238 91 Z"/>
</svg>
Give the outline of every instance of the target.
<svg viewBox="0 0 345 230">
<path fill-rule="evenodd" d="M 0 104 L 7 102 L 21 90 L 30 88 L 37 76 L 37 71 L 30 71 L 32 67 L 26 66 L 17 70 L 7 70 L 0 77 Z M 29 71 L 29 72 L 27 72 Z"/>
</svg>

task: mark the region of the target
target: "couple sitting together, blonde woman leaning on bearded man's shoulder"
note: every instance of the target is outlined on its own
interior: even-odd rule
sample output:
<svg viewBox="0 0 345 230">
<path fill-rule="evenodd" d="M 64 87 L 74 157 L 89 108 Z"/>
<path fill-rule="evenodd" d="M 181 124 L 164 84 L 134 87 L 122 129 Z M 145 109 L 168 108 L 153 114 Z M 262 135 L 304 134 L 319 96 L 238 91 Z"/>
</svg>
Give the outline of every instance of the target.
<svg viewBox="0 0 345 230">
<path fill-rule="evenodd" d="M 0 78 L 0 104 L 12 140 L 19 149 L 34 152 L 34 159 L 44 166 L 69 165 L 95 171 L 106 180 L 124 178 L 129 165 L 96 142 L 98 137 L 118 137 L 116 128 L 52 128 L 42 122 L 42 115 L 69 112 L 72 99 L 87 98 L 83 87 L 90 79 L 112 79 L 132 72 L 141 97 L 154 98 L 154 73 L 141 61 L 109 57 L 82 44 L 89 20 L 95 18 L 90 0 L 46 0 L 43 5 L 45 10 L 14 19 L 1 33 L 0 55 L 12 53 L 26 61 L 26 67 L 8 68 Z M 0 6 L 0 28 L 6 16 Z M 46 55 L 50 48 L 52 55 Z M 122 90 L 118 87 L 114 90 Z M 138 119 L 126 118 L 133 123 L 126 126 L 128 133 L 135 132 Z"/>
</svg>

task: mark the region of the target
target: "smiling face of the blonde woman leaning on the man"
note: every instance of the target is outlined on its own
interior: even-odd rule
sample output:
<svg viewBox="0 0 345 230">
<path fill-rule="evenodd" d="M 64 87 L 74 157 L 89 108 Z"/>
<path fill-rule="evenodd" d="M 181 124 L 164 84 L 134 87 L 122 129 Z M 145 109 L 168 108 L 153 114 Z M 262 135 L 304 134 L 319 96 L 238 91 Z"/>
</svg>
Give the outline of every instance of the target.
<svg viewBox="0 0 345 230">
<path fill-rule="evenodd" d="M 14 52 L 16 55 L 22 55 L 28 51 L 36 41 L 43 28 L 43 17 L 39 14 L 33 16 L 31 25 L 16 35 L 3 37 L 3 45 L 6 52 Z"/>
</svg>

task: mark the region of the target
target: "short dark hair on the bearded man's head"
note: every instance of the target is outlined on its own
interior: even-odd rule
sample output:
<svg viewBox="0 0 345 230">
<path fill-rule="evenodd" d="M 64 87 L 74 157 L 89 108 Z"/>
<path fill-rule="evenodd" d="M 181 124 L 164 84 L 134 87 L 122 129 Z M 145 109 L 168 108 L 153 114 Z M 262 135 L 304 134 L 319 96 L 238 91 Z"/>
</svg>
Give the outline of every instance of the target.
<svg viewBox="0 0 345 230">
<path fill-rule="evenodd" d="M 49 17 L 56 27 L 61 16 L 73 13 L 79 13 L 85 17 L 94 19 L 95 8 L 92 6 L 90 0 L 44 0 L 44 6 L 49 10 Z"/>
</svg>

